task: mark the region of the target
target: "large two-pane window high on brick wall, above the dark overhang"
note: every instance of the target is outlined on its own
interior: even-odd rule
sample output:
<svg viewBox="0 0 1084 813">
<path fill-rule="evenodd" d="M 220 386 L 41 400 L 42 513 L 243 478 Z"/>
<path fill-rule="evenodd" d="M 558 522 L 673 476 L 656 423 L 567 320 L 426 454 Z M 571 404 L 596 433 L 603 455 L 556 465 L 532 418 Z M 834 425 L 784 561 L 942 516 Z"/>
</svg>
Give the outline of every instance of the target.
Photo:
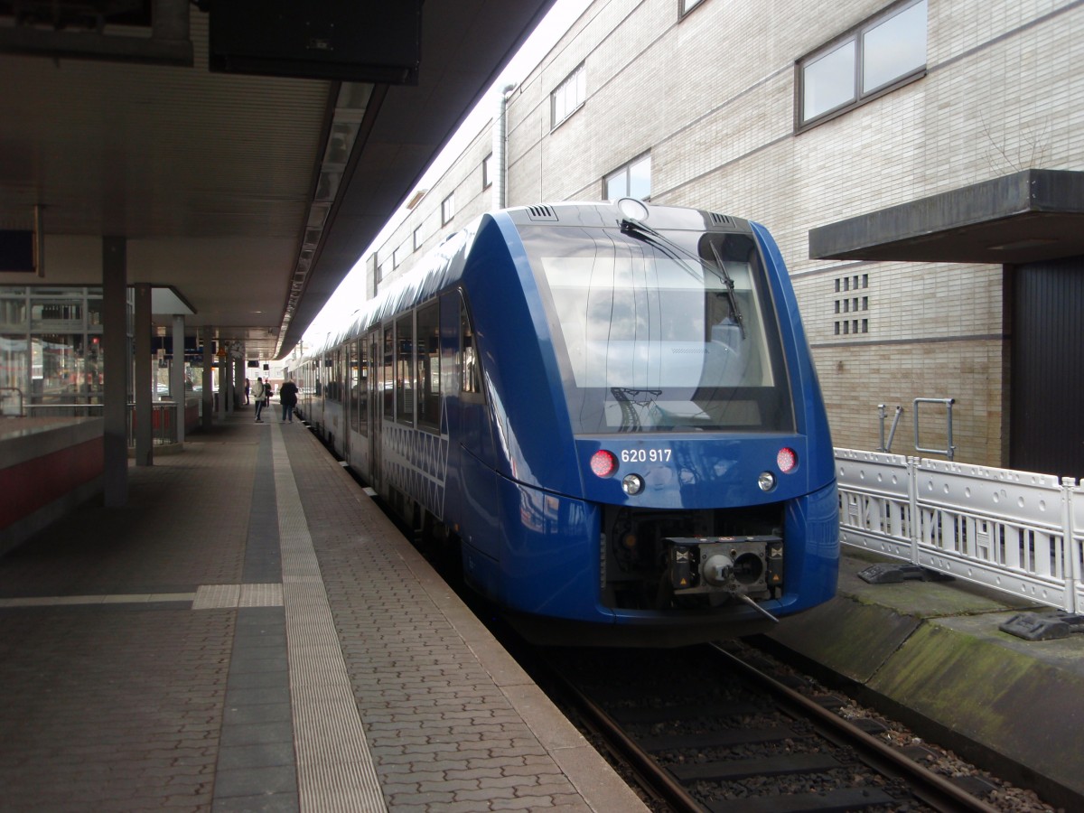
<svg viewBox="0 0 1084 813">
<path fill-rule="evenodd" d="M 798 63 L 798 127 L 838 115 L 926 69 L 927 0 L 866 21 Z"/>
</svg>

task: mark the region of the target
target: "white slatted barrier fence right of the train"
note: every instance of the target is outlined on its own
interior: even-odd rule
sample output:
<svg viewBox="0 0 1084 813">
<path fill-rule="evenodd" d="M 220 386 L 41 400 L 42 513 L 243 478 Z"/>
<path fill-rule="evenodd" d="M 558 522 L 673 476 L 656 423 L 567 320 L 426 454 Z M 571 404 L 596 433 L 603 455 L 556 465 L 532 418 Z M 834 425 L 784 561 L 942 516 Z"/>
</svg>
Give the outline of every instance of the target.
<svg viewBox="0 0 1084 813">
<path fill-rule="evenodd" d="M 1076 480 L 836 450 L 844 544 L 1070 612 L 1084 609 Z"/>
</svg>

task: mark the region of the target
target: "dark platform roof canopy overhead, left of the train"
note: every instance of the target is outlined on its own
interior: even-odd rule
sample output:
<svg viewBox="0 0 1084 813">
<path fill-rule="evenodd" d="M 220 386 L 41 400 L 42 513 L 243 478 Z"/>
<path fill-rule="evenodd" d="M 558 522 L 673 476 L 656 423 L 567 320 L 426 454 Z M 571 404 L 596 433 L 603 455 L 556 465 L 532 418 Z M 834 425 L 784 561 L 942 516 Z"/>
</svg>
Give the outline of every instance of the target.
<svg viewBox="0 0 1084 813">
<path fill-rule="evenodd" d="M 0 231 L 288 353 L 554 0 L 0 3 Z"/>
</svg>

